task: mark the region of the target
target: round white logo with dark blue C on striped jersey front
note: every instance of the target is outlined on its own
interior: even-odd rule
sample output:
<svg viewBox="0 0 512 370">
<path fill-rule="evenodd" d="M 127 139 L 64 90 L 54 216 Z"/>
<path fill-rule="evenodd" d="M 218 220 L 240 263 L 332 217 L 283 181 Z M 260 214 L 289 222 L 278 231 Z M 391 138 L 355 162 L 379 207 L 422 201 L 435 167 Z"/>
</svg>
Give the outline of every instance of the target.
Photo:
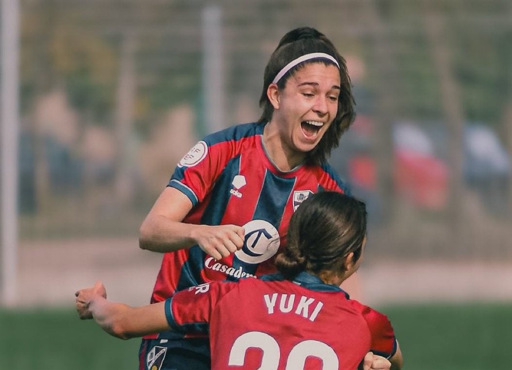
<svg viewBox="0 0 512 370">
<path fill-rule="evenodd" d="M 246 263 L 261 263 L 278 252 L 280 237 L 274 226 L 264 220 L 252 220 L 244 225 L 244 246 L 234 254 Z"/>
</svg>

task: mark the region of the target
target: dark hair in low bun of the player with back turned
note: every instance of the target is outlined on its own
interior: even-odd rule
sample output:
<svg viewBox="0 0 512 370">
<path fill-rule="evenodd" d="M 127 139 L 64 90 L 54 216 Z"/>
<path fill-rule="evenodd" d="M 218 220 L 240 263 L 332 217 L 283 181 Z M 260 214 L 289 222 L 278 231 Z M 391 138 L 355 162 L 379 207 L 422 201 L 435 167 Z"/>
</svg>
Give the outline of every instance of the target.
<svg viewBox="0 0 512 370">
<path fill-rule="evenodd" d="M 350 252 L 354 262 L 361 256 L 366 224 L 364 202 L 337 192 L 313 194 L 291 217 L 287 246 L 275 265 L 286 279 L 302 271 L 345 271 Z"/>
</svg>

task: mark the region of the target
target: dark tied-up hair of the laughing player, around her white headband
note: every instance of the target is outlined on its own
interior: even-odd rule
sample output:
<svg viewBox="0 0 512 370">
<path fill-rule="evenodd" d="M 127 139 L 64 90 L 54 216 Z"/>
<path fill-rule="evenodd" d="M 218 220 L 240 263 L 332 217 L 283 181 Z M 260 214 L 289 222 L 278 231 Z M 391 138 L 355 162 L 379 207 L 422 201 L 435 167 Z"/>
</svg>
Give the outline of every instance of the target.
<svg viewBox="0 0 512 370">
<path fill-rule="evenodd" d="M 347 72 L 345 59 L 341 56 L 331 40 L 323 33 L 318 32 L 311 27 L 296 28 L 283 36 L 278 47 L 274 50 L 263 76 L 263 90 L 260 97 L 260 107 L 263 108 L 263 114 L 260 122 L 268 122 L 272 119 L 274 108 L 267 97 L 267 89 L 274 80 L 275 76 L 291 61 L 311 53 L 325 53 L 332 56 L 337 63 L 326 58 L 312 58 L 297 64 L 288 70 L 277 82 L 280 90 L 286 86 L 286 81 L 298 69 L 311 63 L 324 63 L 325 65 L 334 65 L 339 69 L 340 92 L 338 98 L 338 111 L 332 125 L 322 137 L 318 145 L 311 150 L 306 161 L 312 165 L 321 165 L 327 161 L 331 150 L 339 144 L 339 138 L 350 127 L 355 117 L 355 101 L 352 96 L 352 86 Z"/>
</svg>

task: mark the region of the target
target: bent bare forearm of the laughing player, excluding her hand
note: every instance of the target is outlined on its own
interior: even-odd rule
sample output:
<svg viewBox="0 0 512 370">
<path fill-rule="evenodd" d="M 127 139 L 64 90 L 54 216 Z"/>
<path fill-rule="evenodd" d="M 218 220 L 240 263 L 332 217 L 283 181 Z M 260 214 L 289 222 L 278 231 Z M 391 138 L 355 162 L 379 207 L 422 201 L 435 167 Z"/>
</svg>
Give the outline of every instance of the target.
<svg viewBox="0 0 512 370">
<path fill-rule="evenodd" d="M 194 230 L 201 225 L 173 221 L 165 216 L 148 216 L 139 230 L 139 246 L 153 252 L 173 252 L 196 244 Z"/>
</svg>

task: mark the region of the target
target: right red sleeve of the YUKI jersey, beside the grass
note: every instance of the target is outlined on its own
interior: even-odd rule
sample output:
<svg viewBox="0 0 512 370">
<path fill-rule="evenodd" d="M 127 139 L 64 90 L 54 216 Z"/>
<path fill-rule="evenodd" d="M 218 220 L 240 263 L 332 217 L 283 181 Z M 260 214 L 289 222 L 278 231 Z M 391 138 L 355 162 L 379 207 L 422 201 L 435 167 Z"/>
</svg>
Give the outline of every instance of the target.
<svg viewBox="0 0 512 370">
<path fill-rule="evenodd" d="M 368 323 L 372 336 L 370 351 L 382 357 L 392 357 L 396 352 L 397 342 L 388 317 L 368 306 L 363 306 L 362 315 Z"/>
</svg>

